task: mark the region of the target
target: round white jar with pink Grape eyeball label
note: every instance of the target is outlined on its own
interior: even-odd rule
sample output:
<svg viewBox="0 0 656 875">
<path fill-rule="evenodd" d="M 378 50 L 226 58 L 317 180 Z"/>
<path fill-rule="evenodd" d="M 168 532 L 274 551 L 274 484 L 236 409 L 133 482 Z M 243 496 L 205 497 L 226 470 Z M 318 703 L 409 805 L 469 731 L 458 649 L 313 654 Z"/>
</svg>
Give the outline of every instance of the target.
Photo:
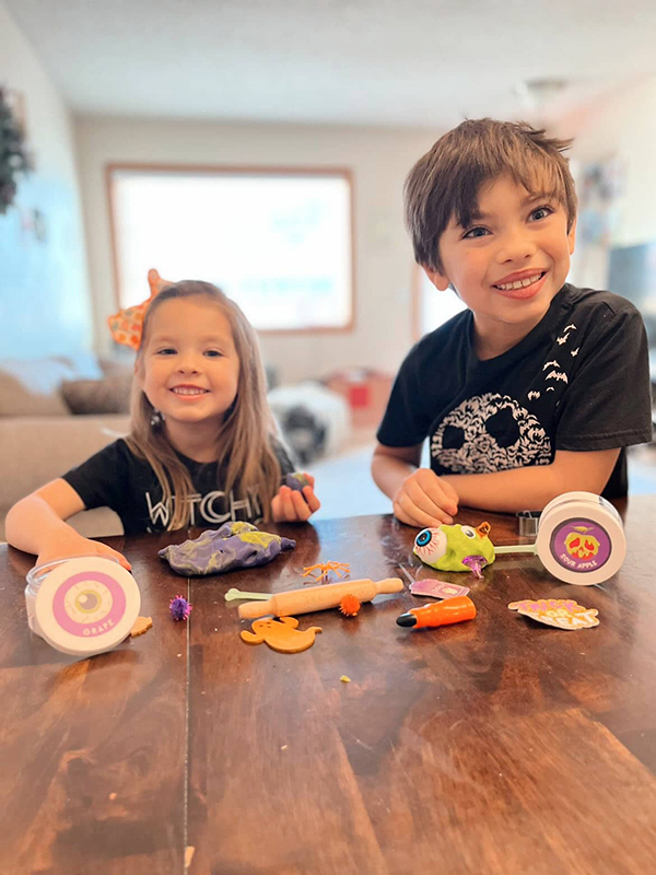
<svg viewBox="0 0 656 875">
<path fill-rule="evenodd" d="M 57 559 L 33 568 L 25 587 L 27 623 L 56 650 L 94 656 L 130 633 L 141 607 L 137 581 L 109 556 Z"/>
</svg>

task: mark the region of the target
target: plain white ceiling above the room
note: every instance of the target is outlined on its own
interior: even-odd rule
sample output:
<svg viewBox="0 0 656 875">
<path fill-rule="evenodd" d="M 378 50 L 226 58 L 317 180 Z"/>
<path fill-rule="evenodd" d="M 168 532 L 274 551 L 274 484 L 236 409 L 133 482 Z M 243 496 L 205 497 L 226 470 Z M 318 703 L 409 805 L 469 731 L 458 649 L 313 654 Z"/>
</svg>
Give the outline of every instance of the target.
<svg viewBox="0 0 656 875">
<path fill-rule="evenodd" d="M 0 0 L 1 1 L 1 0 Z M 445 127 L 656 72 L 654 0 L 4 0 L 78 114 Z"/>
</svg>

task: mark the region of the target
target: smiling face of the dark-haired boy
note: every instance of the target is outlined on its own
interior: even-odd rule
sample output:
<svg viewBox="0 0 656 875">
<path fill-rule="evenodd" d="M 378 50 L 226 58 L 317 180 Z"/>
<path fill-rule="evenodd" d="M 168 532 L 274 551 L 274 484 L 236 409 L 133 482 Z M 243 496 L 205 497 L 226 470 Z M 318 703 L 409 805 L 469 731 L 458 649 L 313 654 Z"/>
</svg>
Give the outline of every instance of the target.
<svg viewBox="0 0 656 875">
<path fill-rule="evenodd" d="M 426 273 L 472 311 L 481 358 L 515 346 L 544 316 L 567 277 L 574 237 L 553 196 L 527 191 L 509 174 L 481 188 L 470 226 L 452 219 L 440 240 L 442 270 Z"/>
</svg>

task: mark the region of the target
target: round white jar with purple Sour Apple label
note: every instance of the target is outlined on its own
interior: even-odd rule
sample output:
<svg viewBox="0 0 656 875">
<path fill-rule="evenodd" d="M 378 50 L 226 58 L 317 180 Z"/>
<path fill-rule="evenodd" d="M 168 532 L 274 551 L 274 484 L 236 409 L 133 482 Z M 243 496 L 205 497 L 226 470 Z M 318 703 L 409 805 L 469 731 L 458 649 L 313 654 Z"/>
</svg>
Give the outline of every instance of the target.
<svg viewBox="0 0 656 875">
<path fill-rule="evenodd" d="M 565 583 L 602 583 L 620 570 L 626 556 L 620 514 L 593 492 L 565 492 L 540 515 L 536 552 L 544 568 Z"/>
</svg>

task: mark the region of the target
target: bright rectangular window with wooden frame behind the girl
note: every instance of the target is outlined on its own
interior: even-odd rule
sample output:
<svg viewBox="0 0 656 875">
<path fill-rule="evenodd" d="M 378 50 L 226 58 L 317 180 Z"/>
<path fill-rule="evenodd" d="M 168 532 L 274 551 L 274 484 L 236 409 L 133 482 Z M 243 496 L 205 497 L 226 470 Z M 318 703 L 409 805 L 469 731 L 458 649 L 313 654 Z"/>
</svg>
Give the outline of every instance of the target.
<svg viewBox="0 0 656 875">
<path fill-rule="evenodd" d="M 148 296 L 147 272 L 213 282 L 259 330 L 352 325 L 347 171 L 110 165 L 118 306 Z"/>
</svg>

